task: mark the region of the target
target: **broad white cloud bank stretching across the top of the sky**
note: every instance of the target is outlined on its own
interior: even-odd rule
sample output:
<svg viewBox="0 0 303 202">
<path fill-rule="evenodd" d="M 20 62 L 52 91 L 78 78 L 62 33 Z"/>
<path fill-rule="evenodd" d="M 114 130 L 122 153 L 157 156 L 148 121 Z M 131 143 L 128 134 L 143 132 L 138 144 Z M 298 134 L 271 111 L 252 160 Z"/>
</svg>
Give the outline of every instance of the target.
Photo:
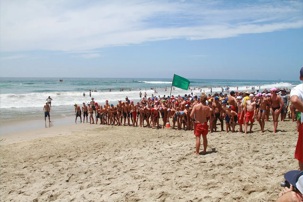
<svg viewBox="0 0 303 202">
<path fill-rule="evenodd" d="M 2 1 L 0 49 L 94 49 L 200 40 L 302 27 L 301 1 Z M 85 52 L 86 51 L 86 52 Z"/>
</svg>

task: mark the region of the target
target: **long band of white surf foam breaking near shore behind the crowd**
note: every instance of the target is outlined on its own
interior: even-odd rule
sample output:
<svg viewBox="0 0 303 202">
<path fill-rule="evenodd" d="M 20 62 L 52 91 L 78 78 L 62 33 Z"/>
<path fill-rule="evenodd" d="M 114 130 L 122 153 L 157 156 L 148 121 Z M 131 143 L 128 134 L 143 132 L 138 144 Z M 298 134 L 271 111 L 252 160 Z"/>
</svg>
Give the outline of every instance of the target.
<svg viewBox="0 0 303 202">
<path fill-rule="evenodd" d="M 261 86 L 261 89 L 271 89 L 273 87 L 275 88 L 280 88 L 280 87 L 288 87 L 291 88 L 292 85 L 291 83 L 286 83 L 286 82 L 280 82 L 280 83 L 275 83 L 275 84 L 268 84 L 268 85 L 263 85 Z M 194 86 L 191 86 L 193 88 Z M 237 87 L 235 86 L 229 86 L 230 90 L 237 90 Z M 246 86 L 239 86 L 238 91 L 244 91 L 248 90 L 250 91 L 251 86 L 246 88 Z M 259 89 L 257 86 L 255 86 L 255 89 Z M 154 96 L 160 95 L 166 95 L 169 96 L 170 94 L 170 89 L 168 88 L 167 91 L 165 92 L 165 88 L 157 88 L 156 91 L 158 92 L 157 94 L 154 93 L 154 90 L 147 90 L 144 91 L 142 90 L 142 97 L 144 96 L 144 93 L 147 93 L 147 96 L 150 97 L 151 94 L 153 93 Z M 210 89 L 207 88 L 202 88 L 202 93 L 205 91 L 205 93 L 210 93 Z M 128 99 L 130 100 L 138 100 L 139 98 L 139 92 L 140 91 L 115 91 L 115 92 L 92 92 L 92 97 L 95 98 L 95 101 L 98 104 L 104 105 L 105 100 L 108 100 L 109 103 L 117 103 L 118 100 L 125 100 L 125 97 L 128 96 Z M 212 88 L 212 93 L 215 92 L 221 92 L 221 88 Z M 178 95 L 184 95 L 184 94 L 189 94 L 191 93 L 190 90 L 183 90 L 179 88 L 175 88 L 175 90 L 172 90 L 171 94 L 174 96 Z M 196 90 L 193 90 L 192 93 L 195 95 L 200 96 L 200 90 L 196 88 Z M 224 93 L 225 90 L 224 90 Z M 88 93 L 87 93 L 88 94 Z M 50 93 L 28 93 L 28 94 L 0 94 L 0 100 L 1 100 L 1 109 L 7 109 L 7 108 L 27 108 L 27 107 L 43 107 L 45 103 L 47 102 L 46 99 L 48 96 L 51 96 L 53 99 L 52 101 L 52 106 L 64 106 L 64 105 L 70 105 L 72 106 L 74 103 L 79 104 L 80 106 L 82 105 L 83 102 L 88 103 L 91 101 L 91 98 L 89 95 L 86 95 L 83 97 L 83 92 L 50 92 Z"/>
</svg>

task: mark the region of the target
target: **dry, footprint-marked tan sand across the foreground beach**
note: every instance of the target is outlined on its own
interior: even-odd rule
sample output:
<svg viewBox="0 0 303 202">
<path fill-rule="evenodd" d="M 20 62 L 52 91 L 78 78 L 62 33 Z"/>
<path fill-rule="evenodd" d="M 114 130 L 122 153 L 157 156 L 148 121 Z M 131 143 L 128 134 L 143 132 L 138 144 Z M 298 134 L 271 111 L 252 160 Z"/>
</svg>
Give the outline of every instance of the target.
<svg viewBox="0 0 303 202">
<path fill-rule="evenodd" d="M 272 128 L 209 133 L 197 156 L 184 130 L 85 123 L 1 135 L 1 201 L 275 201 L 298 169 L 298 133 L 289 120 Z"/>
</svg>

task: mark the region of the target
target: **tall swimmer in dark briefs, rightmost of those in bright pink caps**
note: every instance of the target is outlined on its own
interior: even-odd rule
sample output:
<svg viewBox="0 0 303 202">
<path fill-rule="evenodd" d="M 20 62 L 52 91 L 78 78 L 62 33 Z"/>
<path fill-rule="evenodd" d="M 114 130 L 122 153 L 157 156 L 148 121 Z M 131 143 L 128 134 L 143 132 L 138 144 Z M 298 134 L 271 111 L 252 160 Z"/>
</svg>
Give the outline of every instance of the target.
<svg viewBox="0 0 303 202">
<path fill-rule="evenodd" d="M 272 114 L 272 119 L 274 120 L 274 130 L 273 132 L 277 132 L 277 127 L 278 127 L 278 118 L 281 113 L 281 110 L 283 109 L 284 103 L 281 97 L 276 93 L 277 89 L 272 88 L 270 89 L 271 95 L 271 114 Z"/>
</svg>

